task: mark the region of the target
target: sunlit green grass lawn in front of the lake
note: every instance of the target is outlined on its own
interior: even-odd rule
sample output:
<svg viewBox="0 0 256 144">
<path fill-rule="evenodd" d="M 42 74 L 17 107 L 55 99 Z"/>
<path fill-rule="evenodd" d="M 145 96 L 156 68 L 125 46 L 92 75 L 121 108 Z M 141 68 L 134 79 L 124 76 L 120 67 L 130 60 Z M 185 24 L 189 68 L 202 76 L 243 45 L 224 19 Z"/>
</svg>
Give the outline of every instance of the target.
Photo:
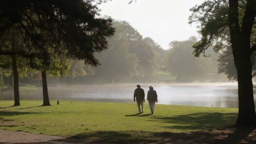
<svg viewBox="0 0 256 144">
<path fill-rule="evenodd" d="M 1 129 L 21 130 L 76 138 L 100 138 L 112 142 L 147 138 L 157 132 L 190 132 L 235 124 L 237 108 L 210 108 L 181 105 L 156 105 L 154 115 L 149 107 L 135 116 L 135 103 L 99 103 L 51 101 L 0 101 Z M 8 124 L 8 125 L 6 125 Z M 137 134 L 134 134 L 137 133 Z M 141 139 L 141 138 L 140 138 Z"/>
</svg>

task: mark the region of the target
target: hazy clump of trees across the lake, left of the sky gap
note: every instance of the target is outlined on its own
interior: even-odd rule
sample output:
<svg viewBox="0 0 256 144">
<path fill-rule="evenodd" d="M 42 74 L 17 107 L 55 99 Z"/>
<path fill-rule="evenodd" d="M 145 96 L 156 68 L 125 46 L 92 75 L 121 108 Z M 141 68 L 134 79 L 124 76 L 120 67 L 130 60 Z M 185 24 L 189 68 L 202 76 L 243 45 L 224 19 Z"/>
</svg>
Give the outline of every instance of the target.
<svg viewBox="0 0 256 144">
<path fill-rule="evenodd" d="M 163 67 L 159 63 L 164 50 L 154 40 L 142 38 L 126 21 L 114 21 L 113 27 L 116 32 L 108 39 L 109 49 L 96 55 L 101 66 L 93 68 L 95 75 L 112 82 L 154 75 Z"/>
</svg>

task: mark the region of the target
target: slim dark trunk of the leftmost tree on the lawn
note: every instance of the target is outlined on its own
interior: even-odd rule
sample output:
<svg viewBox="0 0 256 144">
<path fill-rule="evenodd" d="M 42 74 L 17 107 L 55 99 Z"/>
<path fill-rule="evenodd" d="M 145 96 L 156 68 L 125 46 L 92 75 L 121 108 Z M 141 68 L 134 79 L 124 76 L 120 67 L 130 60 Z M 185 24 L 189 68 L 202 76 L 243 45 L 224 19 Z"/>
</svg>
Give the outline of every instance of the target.
<svg viewBox="0 0 256 144">
<path fill-rule="evenodd" d="M 19 106 L 19 75 L 17 69 L 16 55 L 12 56 L 12 66 L 13 66 L 13 87 L 14 87 L 14 105 Z"/>
</svg>

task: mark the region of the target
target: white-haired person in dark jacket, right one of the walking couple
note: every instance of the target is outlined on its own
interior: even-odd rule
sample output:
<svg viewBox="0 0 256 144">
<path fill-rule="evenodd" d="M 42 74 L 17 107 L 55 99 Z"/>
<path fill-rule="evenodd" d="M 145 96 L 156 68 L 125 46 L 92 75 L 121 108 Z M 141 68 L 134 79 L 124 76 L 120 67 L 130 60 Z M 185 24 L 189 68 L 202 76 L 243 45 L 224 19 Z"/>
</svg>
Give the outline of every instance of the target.
<svg viewBox="0 0 256 144">
<path fill-rule="evenodd" d="M 147 92 L 147 100 L 148 100 L 151 114 L 153 114 L 154 108 L 155 108 L 155 103 L 158 102 L 157 101 L 157 92 L 155 90 L 153 90 L 154 88 L 152 85 L 149 85 L 148 88 L 149 88 L 149 90 Z"/>
</svg>

